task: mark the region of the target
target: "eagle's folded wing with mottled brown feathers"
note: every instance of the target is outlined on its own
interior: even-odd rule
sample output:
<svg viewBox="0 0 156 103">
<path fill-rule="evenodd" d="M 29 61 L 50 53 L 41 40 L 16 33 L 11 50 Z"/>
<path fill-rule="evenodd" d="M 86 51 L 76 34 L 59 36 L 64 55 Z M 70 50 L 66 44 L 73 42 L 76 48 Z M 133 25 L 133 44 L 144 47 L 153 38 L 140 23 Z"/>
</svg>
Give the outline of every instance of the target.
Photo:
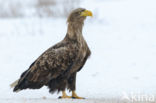
<svg viewBox="0 0 156 103">
<path fill-rule="evenodd" d="M 21 75 L 14 91 L 26 88 L 40 88 L 52 78 L 63 74 L 73 64 L 77 50 L 74 43 L 66 45 L 60 43 L 49 48 Z"/>
</svg>

